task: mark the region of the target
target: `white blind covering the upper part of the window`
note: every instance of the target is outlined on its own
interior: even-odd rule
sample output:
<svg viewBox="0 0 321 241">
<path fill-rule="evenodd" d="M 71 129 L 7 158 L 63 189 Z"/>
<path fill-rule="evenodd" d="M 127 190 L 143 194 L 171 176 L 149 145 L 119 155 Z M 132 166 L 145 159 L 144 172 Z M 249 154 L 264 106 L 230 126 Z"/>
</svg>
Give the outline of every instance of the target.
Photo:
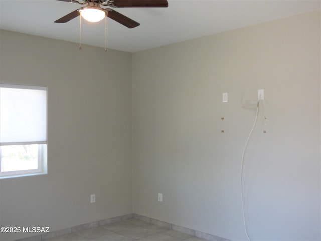
<svg viewBox="0 0 321 241">
<path fill-rule="evenodd" d="M 47 87 L 0 84 L 0 145 L 47 143 Z"/>
</svg>

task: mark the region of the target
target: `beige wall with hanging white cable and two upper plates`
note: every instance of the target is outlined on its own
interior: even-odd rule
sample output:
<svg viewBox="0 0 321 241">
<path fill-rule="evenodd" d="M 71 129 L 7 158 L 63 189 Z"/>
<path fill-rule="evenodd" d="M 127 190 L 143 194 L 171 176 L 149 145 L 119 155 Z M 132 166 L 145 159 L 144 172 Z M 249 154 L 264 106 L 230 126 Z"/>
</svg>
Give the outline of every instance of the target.
<svg viewBox="0 0 321 241">
<path fill-rule="evenodd" d="M 319 240 L 319 12 L 133 54 L 134 212 L 245 240 L 258 89 L 249 234 Z"/>
</svg>

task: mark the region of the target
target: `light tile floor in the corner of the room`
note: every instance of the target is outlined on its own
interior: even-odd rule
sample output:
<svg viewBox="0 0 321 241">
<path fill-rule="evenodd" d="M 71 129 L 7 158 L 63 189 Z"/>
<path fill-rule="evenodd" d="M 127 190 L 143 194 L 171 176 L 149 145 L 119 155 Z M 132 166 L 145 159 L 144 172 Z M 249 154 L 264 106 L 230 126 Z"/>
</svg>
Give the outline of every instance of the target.
<svg viewBox="0 0 321 241">
<path fill-rule="evenodd" d="M 47 241 L 204 241 L 204 239 L 140 219 L 127 219 L 104 226 L 82 229 Z"/>
</svg>

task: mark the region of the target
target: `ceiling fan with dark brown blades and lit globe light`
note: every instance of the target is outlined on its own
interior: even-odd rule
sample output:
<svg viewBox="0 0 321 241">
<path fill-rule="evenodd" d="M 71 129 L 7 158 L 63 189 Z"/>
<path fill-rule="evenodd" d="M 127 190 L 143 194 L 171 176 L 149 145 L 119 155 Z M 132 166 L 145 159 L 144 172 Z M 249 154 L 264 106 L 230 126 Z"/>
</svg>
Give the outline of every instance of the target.
<svg viewBox="0 0 321 241">
<path fill-rule="evenodd" d="M 81 15 L 84 19 L 90 22 L 98 22 L 105 18 L 106 16 L 117 21 L 118 23 L 128 27 L 134 28 L 140 25 L 140 23 L 122 15 L 121 13 L 110 9 L 103 8 L 105 6 L 112 8 L 140 8 L 140 7 L 168 7 L 167 0 L 58 0 L 69 3 L 85 5 L 79 9 L 74 10 L 73 12 L 57 19 L 55 23 L 66 23 L 77 16 Z M 91 17 L 93 19 L 91 19 Z"/>
</svg>

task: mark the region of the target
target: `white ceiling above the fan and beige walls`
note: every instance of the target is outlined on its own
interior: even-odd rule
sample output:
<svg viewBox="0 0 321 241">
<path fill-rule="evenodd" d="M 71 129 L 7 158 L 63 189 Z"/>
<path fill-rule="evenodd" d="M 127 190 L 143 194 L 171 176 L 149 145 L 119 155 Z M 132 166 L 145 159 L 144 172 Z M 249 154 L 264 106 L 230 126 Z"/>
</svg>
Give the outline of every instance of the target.
<svg viewBox="0 0 321 241">
<path fill-rule="evenodd" d="M 107 47 L 127 52 L 164 46 L 320 9 L 320 0 L 168 0 L 168 8 L 118 8 L 139 22 L 129 29 L 107 20 Z M 57 0 L 0 0 L 0 28 L 79 43 L 79 17 L 54 23 L 82 7 Z M 105 23 L 82 21 L 82 43 L 105 46 Z M 75 45 L 78 47 L 78 45 Z"/>
</svg>

